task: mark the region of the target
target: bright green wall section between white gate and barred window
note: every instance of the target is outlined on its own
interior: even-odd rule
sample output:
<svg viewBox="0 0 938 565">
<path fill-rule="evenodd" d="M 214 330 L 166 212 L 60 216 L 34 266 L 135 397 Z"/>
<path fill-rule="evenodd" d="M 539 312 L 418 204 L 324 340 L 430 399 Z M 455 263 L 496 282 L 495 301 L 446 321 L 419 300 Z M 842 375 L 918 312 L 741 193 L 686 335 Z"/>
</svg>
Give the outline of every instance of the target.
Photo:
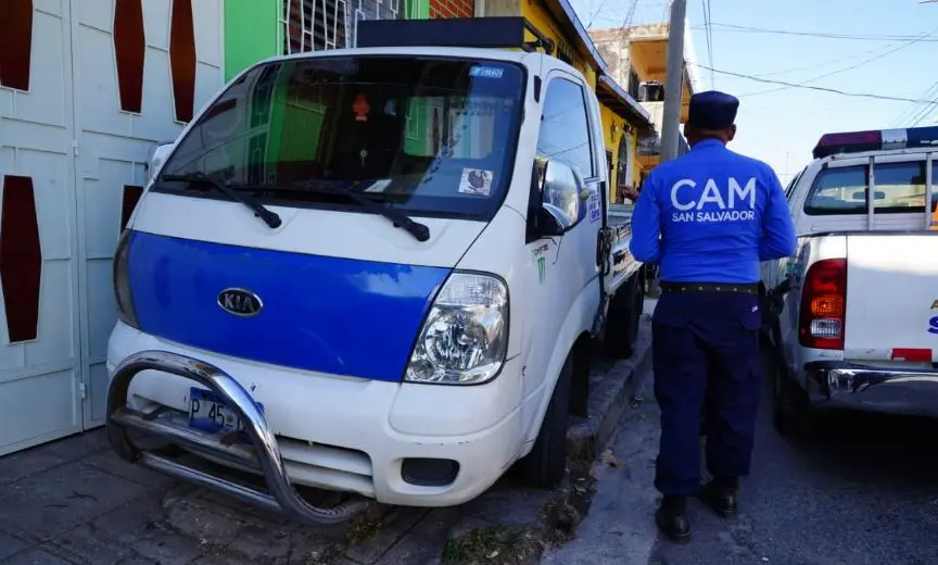
<svg viewBox="0 0 938 565">
<path fill-rule="evenodd" d="M 225 0 L 225 80 L 257 61 L 280 54 L 283 0 Z"/>
</svg>

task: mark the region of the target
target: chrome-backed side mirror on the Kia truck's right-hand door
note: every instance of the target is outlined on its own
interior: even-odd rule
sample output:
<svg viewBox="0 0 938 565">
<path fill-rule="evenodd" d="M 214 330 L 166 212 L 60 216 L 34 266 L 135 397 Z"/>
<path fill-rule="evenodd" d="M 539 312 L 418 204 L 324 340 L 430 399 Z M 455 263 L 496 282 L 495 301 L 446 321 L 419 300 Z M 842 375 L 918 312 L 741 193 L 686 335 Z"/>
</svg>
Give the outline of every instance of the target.
<svg viewBox="0 0 938 565">
<path fill-rule="evenodd" d="M 540 176 L 541 206 L 537 231 L 541 236 L 560 236 L 580 219 L 583 208 L 583 181 L 575 170 L 562 161 L 547 160 Z"/>
</svg>

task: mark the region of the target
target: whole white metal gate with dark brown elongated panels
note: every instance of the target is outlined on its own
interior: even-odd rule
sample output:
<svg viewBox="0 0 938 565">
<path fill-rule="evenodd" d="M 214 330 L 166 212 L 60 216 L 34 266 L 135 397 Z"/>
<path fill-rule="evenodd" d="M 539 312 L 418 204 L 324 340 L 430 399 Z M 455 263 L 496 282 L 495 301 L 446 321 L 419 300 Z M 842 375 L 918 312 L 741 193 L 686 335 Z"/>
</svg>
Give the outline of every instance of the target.
<svg viewBox="0 0 938 565">
<path fill-rule="evenodd" d="M 0 1 L 0 455 L 103 423 L 117 236 L 149 152 L 223 85 L 221 20 Z"/>
</svg>

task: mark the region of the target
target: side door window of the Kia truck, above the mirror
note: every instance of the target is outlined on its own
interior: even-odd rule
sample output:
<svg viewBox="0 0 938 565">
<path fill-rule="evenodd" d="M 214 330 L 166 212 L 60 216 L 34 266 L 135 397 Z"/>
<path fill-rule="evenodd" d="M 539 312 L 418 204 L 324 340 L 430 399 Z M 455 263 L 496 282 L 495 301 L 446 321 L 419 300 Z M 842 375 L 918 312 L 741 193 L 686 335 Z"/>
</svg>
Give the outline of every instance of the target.
<svg viewBox="0 0 938 565">
<path fill-rule="evenodd" d="M 547 85 L 537 156 L 569 163 L 583 178 L 597 175 L 586 99 L 583 88 L 572 80 L 555 78 Z"/>
</svg>

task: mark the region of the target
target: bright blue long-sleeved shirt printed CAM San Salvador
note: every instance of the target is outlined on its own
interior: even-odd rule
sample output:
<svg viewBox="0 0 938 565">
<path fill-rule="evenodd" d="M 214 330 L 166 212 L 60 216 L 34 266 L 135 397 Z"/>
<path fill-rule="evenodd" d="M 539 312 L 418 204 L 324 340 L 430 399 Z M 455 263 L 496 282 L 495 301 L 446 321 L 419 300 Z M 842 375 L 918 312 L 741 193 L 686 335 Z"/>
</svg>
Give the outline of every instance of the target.
<svg viewBox="0 0 938 565">
<path fill-rule="evenodd" d="M 795 252 L 785 192 L 765 163 L 706 139 L 655 167 L 632 213 L 629 249 L 661 280 L 759 281 L 759 263 Z"/>
</svg>

